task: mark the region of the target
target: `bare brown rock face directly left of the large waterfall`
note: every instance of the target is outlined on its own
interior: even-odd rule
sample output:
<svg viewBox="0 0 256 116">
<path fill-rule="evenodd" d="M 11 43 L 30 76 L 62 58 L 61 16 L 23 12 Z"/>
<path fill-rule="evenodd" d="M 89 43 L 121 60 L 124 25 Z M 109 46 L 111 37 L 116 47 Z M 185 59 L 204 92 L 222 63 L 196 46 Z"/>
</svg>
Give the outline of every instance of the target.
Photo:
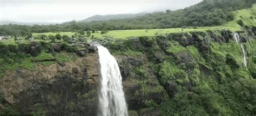
<svg viewBox="0 0 256 116">
<path fill-rule="evenodd" d="M 46 115 L 96 115 L 97 54 L 60 66 L 37 65 L 33 71 L 6 71 L 0 79 L 0 90 L 5 105 L 10 104 L 21 114 L 38 112 Z"/>
</svg>

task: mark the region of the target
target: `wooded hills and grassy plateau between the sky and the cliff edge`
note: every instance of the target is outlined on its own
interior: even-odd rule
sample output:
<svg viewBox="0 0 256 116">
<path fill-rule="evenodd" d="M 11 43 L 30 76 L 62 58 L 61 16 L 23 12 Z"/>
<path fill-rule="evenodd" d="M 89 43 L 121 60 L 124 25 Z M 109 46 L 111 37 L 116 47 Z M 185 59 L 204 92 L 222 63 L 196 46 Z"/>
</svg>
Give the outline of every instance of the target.
<svg viewBox="0 0 256 116">
<path fill-rule="evenodd" d="M 127 19 L 112 19 L 110 21 L 95 22 L 68 22 L 56 25 L 2 25 L 0 26 L 0 35 L 9 35 L 14 38 L 31 38 L 38 35 L 52 35 L 55 37 L 57 32 L 63 33 L 71 37 L 86 35 L 90 37 L 107 37 L 114 38 L 130 37 L 130 36 L 153 36 L 159 33 L 180 32 L 181 27 L 188 27 L 185 31 L 200 31 L 209 29 L 229 29 L 232 31 L 240 30 L 237 21 L 241 19 L 245 25 L 255 26 L 255 1 L 253 0 L 223 0 L 209 1 L 204 0 L 196 5 L 185 9 L 166 12 L 154 12 L 144 16 Z M 242 9 L 242 10 L 241 10 Z M 174 28 L 174 29 L 168 29 Z M 148 29 L 167 29 L 149 31 Z M 90 31 L 91 30 L 91 31 Z M 100 30 L 103 33 L 97 32 Z M 109 31 L 105 30 L 120 30 Z M 128 30 L 123 31 L 123 30 Z M 51 33 L 54 32 L 54 33 Z M 90 32 L 90 34 L 89 34 Z M 56 36 L 57 37 L 57 36 Z M 37 37 L 37 38 L 42 38 Z M 44 38 L 44 37 L 43 37 Z M 60 36 L 58 35 L 58 38 Z"/>
</svg>

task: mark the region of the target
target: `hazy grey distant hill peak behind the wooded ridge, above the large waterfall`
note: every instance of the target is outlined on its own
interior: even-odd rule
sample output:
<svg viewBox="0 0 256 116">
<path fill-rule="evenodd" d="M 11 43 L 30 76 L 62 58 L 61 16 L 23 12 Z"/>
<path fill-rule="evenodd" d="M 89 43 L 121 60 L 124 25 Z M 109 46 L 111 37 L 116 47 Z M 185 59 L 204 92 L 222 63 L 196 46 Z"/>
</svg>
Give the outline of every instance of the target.
<svg viewBox="0 0 256 116">
<path fill-rule="evenodd" d="M 143 16 L 145 15 L 146 12 L 142 12 L 142 13 L 124 13 L 124 14 L 117 14 L 117 15 L 95 15 L 95 16 L 91 16 L 89 18 L 83 19 L 81 21 L 78 22 L 91 22 L 91 21 L 107 21 L 110 19 L 124 19 L 124 18 L 134 18 L 137 16 Z"/>
</svg>

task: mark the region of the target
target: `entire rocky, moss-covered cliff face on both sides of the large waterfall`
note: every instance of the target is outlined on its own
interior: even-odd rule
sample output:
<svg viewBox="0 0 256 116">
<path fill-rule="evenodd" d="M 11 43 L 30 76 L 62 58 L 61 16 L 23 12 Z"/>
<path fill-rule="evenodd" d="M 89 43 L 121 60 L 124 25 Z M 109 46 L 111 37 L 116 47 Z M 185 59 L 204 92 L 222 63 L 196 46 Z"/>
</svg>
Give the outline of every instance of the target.
<svg viewBox="0 0 256 116">
<path fill-rule="evenodd" d="M 255 29 L 239 32 L 248 67 L 242 64 L 242 52 L 231 31 L 97 41 L 117 59 L 130 115 L 251 115 L 256 110 L 255 84 L 248 82 L 256 78 L 255 34 Z M 38 50 L 35 56 L 43 48 Z M 26 51 L 32 53 L 30 49 Z M 96 48 L 77 43 L 57 44 L 49 47 L 49 51 L 55 55 L 69 51 L 77 58 L 35 65 L 33 69 L 6 70 L 0 78 L 1 111 L 96 115 Z M 246 90 L 242 93 L 246 97 L 239 93 L 241 90 Z"/>
</svg>

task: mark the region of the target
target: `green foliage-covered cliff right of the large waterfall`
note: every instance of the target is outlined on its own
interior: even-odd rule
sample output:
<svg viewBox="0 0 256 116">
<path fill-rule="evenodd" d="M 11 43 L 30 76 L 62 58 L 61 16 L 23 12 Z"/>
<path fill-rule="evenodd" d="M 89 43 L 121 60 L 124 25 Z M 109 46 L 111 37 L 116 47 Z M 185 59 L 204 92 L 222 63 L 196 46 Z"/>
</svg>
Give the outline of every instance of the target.
<svg viewBox="0 0 256 116">
<path fill-rule="evenodd" d="M 135 70 L 139 72 L 137 74 L 147 77 L 139 79 L 140 83 L 145 83 L 139 88 L 153 89 L 154 80 L 150 73 L 156 74 L 164 87 L 161 99 L 152 96 L 158 92 L 151 91 L 142 96 L 144 91 L 139 89 L 134 93 L 137 99 L 151 99 L 150 103 L 154 104 L 140 106 L 144 110 L 137 110 L 139 114 L 150 112 L 153 107 L 161 115 L 255 115 L 256 39 L 253 30 L 239 32 L 248 67 L 242 62 L 240 45 L 233 34 L 225 30 L 139 37 L 118 40 L 106 46 L 118 56 L 142 53 L 130 56 L 143 67 Z M 131 68 L 137 67 L 131 65 Z M 137 80 L 133 71 L 130 73 L 126 78 Z"/>
</svg>

